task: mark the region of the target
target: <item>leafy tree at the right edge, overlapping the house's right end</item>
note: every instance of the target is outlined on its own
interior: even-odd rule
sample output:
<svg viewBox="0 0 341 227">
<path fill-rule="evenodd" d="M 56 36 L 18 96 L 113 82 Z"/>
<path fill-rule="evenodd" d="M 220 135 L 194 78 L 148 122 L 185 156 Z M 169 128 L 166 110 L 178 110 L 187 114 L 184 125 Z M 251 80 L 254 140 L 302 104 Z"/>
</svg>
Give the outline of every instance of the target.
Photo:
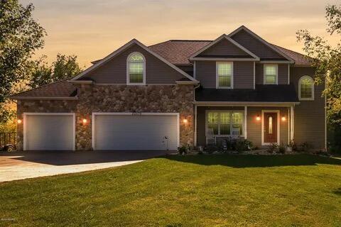
<svg viewBox="0 0 341 227">
<path fill-rule="evenodd" d="M 341 35 L 341 7 L 330 5 L 325 8 L 330 35 Z M 325 82 L 323 95 L 327 98 L 328 122 L 341 123 L 341 43 L 335 47 L 320 36 L 313 36 L 307 30 L 297 33 L 297 40 L 303 42 L 303 50 L 315 67 L 315 83 Z"/>
</svg>

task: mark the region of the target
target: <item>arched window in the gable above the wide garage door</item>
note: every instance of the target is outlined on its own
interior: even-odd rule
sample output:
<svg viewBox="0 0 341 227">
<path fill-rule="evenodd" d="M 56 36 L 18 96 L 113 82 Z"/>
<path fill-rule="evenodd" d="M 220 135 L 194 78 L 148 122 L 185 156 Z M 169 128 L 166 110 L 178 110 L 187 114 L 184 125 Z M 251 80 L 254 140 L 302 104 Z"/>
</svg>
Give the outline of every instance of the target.
<svg viewBox="0 0 341 227">
<path fill-rule="evenodd" d="M 146 59 L 139 52 L 126 59 L 126 84 L 146 84 Z"/>
</svg>

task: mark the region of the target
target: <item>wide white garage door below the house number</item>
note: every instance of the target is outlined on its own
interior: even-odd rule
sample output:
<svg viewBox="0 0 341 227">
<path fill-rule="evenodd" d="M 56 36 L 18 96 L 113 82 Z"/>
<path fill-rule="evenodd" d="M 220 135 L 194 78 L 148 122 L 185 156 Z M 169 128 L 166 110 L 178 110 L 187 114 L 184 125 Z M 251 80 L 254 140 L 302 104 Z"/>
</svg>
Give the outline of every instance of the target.
<svg viewBox="0 0 341 227">
<path fill-rule="evenodd" d="M 178 114 L 93 114 L 94 150 L 176 150 Z"/>
</svg>

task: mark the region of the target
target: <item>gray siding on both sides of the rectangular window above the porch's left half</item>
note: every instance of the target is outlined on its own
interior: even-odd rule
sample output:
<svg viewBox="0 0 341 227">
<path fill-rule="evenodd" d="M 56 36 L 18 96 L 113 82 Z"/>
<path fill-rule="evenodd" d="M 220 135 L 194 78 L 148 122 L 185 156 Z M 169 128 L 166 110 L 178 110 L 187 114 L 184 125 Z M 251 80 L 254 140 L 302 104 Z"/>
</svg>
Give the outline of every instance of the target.
<svg viewBox="0 0 341 227">
<path fill-rule="evenodd" d="M 216 62 L 195 62 L 195 79 L 200 81 L 202 87 L 216 87 Z M 254 88 L 254 62 L 233 62 L 233 87 L 234 89 Z"/>
</svg>

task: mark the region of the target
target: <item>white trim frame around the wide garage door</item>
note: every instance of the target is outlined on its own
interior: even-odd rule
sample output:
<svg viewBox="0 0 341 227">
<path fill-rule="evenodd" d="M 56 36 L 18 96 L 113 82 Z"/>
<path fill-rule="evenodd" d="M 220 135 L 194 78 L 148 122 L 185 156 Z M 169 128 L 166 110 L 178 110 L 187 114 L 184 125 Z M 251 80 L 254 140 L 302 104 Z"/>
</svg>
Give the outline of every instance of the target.
<svg viewBox="0 0 341 227">
<path fill-rule="evenodd" d="M 92 139 L 91 139 L 91 142 L 92 142 L 92 150 L 95 150 L 95 141 L 94 141 L 94 125 L 95 125 L 95 116 L 100 116 L 100 115 L 121 115 L 121 116 L 124 116 L 124 115 L 129 115 L 131 116 L 132 113 L 131 112 L 92 112 L 92 115 L 91 115 L 91 120 L 92 120 L 92 124 L 91 124 L 91 135 L 92 135 Z M 141 113 L 142 116 L 160 116 L 160 115 L 163 115 L 163 116 L 176 116 L 177 117 L 177 146 L 179 147 L 180 146 L 180 114 L 179 113 Z"/>
</svg>

